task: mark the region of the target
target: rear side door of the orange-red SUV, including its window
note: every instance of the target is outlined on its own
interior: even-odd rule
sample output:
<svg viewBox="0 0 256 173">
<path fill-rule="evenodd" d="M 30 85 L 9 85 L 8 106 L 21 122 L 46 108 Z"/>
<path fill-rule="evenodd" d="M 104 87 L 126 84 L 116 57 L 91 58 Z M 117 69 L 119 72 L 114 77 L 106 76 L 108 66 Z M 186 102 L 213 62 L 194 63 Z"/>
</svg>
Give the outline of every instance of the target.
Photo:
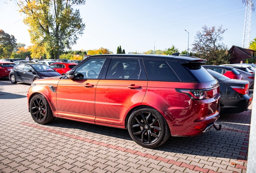
<svg viewBox="0 0 256 173">
<path fill-rule="evenodd" d="M 136 64 L 130 74 L 125 73 L 129 64 Z M 146 73 L 140 58 L 110 58 L 96 88 L 95 124 L 124 128 L 126 114 L 141 105 L 147 90 Z"/>
</svg>

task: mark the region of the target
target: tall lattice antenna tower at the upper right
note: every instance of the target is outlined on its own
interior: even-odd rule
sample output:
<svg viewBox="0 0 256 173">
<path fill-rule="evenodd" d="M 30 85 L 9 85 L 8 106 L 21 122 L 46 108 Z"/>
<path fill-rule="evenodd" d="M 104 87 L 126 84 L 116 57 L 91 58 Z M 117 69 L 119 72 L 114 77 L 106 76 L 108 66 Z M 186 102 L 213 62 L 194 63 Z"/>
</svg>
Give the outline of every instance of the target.
<svg viewBox="0 0 256 173">
<path fill-rule="evenodd" d="M 251 32 L 251 19 L 252 12 L 254 12 L 254 4 L 252 0 L 243 0 L 246 3 L 246 14 L 244 18 L 244 33 L 243 33 L 243 48 L 249 48 L 250 45 L 250 32 Z"/>
</svg>

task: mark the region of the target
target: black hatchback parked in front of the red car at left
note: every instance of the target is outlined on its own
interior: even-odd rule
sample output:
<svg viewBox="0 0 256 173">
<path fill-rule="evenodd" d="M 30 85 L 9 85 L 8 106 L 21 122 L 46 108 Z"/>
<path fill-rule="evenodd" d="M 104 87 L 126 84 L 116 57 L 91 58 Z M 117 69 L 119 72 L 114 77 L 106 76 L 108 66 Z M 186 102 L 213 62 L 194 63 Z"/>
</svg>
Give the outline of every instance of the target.
<svg viewBox="0 0 256 173">
<path fill-rule="evenodd" d="M 9 73 L 9 79 L 13 84 L 17 82 L 32 83 L 34 80 L 53 76 L 61 76 L 61 74 L 47 65 L 38 63 L 18 64 Z"/>
</svg>

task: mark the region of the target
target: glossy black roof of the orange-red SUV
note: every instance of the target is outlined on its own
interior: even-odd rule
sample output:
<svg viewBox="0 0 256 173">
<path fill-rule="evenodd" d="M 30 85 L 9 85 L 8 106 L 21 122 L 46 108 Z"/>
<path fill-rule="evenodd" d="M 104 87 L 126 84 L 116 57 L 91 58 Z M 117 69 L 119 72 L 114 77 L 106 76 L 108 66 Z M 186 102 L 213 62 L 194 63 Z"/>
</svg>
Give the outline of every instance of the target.
<svg viewBox="0 0 256 173">
<path fill-rule="evenodd" d="M 191 62 L 205 63 L 205 59 L 200 59 L 190 56 L 173 56 L 173 55 L 154 55 L 154 54 L 101 54 L 93 55 L 89 58 L 96 57 L 118 57 L 118 58 L 153 58 L 153 59 L 166 59 L 166 60 L 177 60 L 180 64 L 186 64 Z"/>
</svg>

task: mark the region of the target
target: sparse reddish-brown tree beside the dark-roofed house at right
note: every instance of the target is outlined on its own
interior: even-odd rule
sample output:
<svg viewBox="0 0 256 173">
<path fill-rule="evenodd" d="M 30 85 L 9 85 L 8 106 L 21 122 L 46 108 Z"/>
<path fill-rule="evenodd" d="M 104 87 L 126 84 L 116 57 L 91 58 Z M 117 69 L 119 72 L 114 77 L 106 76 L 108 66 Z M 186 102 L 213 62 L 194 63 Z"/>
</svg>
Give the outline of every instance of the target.
<svg viewBox="0 0 256 173">
<path fill-rule="evenodd" d="M 219 65 L 228 64 L 232 54 L 229 54 L 227 46 L 221 42 L 223 33 L 227 29 L 207 27 L 204 25 L 202 31 L 196 32 L 192 51 L 198 58 L 206 59 L 206 64 Z"/>
</svg>

